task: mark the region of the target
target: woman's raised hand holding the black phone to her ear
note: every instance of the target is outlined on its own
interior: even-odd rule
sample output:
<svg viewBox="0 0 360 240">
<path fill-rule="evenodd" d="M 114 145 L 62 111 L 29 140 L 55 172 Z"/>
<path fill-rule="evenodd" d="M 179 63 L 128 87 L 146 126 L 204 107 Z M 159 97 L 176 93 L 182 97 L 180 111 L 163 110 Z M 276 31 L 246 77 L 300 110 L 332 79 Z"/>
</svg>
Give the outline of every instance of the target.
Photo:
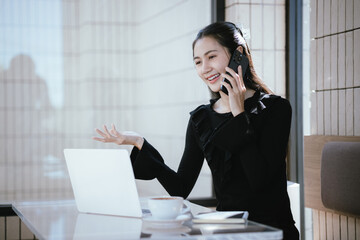
<svg viewBox="0 0 360 240">
<path fill-rule="evenodd" d="M 230 110 L 233 116 L 235 117 L 245 111 L 244 102 L 245 102 L 246 87 L 244 84 L 244 80 L 242 78 L 241 66 L 238 67 L 239 74 L 237 74 L 234 70 L 232 70 L 229 67 L 226 67 L 225 70 L 229 72 L 231 75 L 223 73 L 222 76 L 227 80 L 229 80 L 232 87 L 226 81 L 224 81 L 222 84 L 228 90 Z"/>
</svg>

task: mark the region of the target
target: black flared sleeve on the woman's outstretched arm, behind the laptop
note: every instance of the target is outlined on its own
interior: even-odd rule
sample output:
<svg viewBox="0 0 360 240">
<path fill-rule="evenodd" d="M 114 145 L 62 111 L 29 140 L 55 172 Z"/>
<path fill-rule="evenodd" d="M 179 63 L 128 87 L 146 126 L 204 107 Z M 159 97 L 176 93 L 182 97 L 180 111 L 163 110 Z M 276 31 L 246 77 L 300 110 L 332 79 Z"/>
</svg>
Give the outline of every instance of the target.
<svg viewBox="0 0 360 240">
<path fill-rule="evenodd" d="M 141 151 L 134 147 L 131 161 L 135 178 L 144 180 L 157 178 L 170 195 L 187 198 L 204 162 L 204 155 L 191 121 L 187 127 L 185 140 L 185 149 L 177 172 L 164 163 L 160 153 L 146 140 Z"/>
</svg>

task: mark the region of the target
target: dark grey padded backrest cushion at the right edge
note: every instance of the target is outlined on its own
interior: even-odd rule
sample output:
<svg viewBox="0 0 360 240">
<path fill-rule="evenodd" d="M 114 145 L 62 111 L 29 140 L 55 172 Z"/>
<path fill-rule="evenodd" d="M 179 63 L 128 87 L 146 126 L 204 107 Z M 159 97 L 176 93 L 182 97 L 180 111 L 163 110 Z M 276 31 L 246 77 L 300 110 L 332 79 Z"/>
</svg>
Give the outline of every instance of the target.
<svg viewBox="0 0 360 240">
<path fill-rule="evenodd" d="M 360 142 L 324 145 L 321 200 L 326 208 L 360 216 Z"/>
</svg>

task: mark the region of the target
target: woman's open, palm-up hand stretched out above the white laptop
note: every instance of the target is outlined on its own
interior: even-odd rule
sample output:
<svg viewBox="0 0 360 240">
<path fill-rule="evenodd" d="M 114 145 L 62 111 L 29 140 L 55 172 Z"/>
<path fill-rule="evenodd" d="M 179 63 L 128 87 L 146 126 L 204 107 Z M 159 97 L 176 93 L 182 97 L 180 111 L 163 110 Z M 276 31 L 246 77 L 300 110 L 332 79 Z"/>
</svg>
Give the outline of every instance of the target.
<svg viewBox="0 0 360 240">
<path fill-rule="evenodd" d="M 115 128 L 115 125 L 111 125 L 111 130 L 109 131 L 106 125 L 103 126 L 104 131 L 100 129 L 95 129 L 95 131 L 102 137 L 93 137 L 94 140 L 103 142 L 103 143 L 115 143 L 118 145 L 134 145 L 139 150 L 141 150 L 144 144 L 144 138 L 136 132 L 118 132 Z"/>
</svg>

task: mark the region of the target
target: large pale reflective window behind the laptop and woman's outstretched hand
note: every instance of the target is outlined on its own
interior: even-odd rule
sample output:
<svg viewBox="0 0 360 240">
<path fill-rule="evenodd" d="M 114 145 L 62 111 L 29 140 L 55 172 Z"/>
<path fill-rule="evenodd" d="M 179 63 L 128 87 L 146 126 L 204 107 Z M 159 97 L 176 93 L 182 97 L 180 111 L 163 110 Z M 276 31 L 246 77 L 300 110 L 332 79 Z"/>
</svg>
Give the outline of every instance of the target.
<svg viewBox="0 0 360 240">
<path fill-rule="evenodd" d="M 63 149 L 115 148 L 91 139 L 103 124 L 152 138 L 176 168 L 188 113 L 208 101 L 191 43 L 211 2 L 161 3 L 0 0 L 0 200 L 71 198 Z"/>
</svg>

